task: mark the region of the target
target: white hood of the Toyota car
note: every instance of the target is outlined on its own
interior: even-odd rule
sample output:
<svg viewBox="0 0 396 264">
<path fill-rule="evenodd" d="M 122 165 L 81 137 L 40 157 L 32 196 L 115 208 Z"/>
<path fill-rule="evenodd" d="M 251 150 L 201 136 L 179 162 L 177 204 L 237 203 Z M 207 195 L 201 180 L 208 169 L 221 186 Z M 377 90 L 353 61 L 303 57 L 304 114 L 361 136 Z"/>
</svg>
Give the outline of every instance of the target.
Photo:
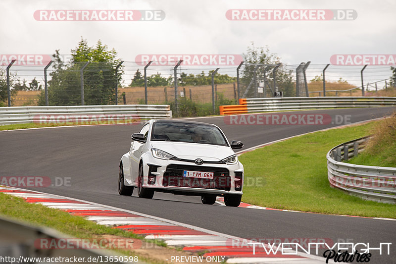
<svg viewBox="0 0 396 264">
<path fill-rule="evenodd" d="M 234 151 L 227 146 L 165 141 L 151 141 L 150 143 L 153 148 L 167 152 L 176 158 L 202 158 L 206 161 L 219 161 L 235 154 Z"/>
</svg>

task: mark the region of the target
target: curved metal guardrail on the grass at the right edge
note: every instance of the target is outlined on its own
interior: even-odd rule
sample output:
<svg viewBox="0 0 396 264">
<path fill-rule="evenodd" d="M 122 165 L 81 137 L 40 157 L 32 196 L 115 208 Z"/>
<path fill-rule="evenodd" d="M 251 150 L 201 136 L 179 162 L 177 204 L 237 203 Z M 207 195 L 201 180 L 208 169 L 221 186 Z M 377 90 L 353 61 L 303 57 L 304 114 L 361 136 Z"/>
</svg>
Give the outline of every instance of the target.
<svg viewBox="0 0 396 264">
<path fill-rule="evenodd" d="M 327 153 L 330 186 L 365 200 L 396 204 L 396 168 L 342 162 L 363 151 L 367 138 L 348 141 Z"/>
</svg>

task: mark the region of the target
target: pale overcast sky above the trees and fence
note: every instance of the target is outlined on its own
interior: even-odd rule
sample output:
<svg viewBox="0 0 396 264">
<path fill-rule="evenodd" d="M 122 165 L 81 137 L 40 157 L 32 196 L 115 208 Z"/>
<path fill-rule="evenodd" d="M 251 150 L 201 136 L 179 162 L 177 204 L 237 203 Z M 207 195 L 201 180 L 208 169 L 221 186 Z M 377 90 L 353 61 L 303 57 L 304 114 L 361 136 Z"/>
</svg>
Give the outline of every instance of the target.
<svg viewBox="0 0 396 264">
<path fill-rule="evenodd" d="M 37 21 L 41 9 L 156 9 L 162 21 Z M 228 9 L 354 9 L 343 21 L 231 21 Z M 286 64 L 333 54 L 395 54 L 395 0 L 12 0 L 0 2 L 0 54 L 69 54 L 81 36 L 125 61 L 138 54 L 242 54 L 268 46 Z"/>
</svg>

